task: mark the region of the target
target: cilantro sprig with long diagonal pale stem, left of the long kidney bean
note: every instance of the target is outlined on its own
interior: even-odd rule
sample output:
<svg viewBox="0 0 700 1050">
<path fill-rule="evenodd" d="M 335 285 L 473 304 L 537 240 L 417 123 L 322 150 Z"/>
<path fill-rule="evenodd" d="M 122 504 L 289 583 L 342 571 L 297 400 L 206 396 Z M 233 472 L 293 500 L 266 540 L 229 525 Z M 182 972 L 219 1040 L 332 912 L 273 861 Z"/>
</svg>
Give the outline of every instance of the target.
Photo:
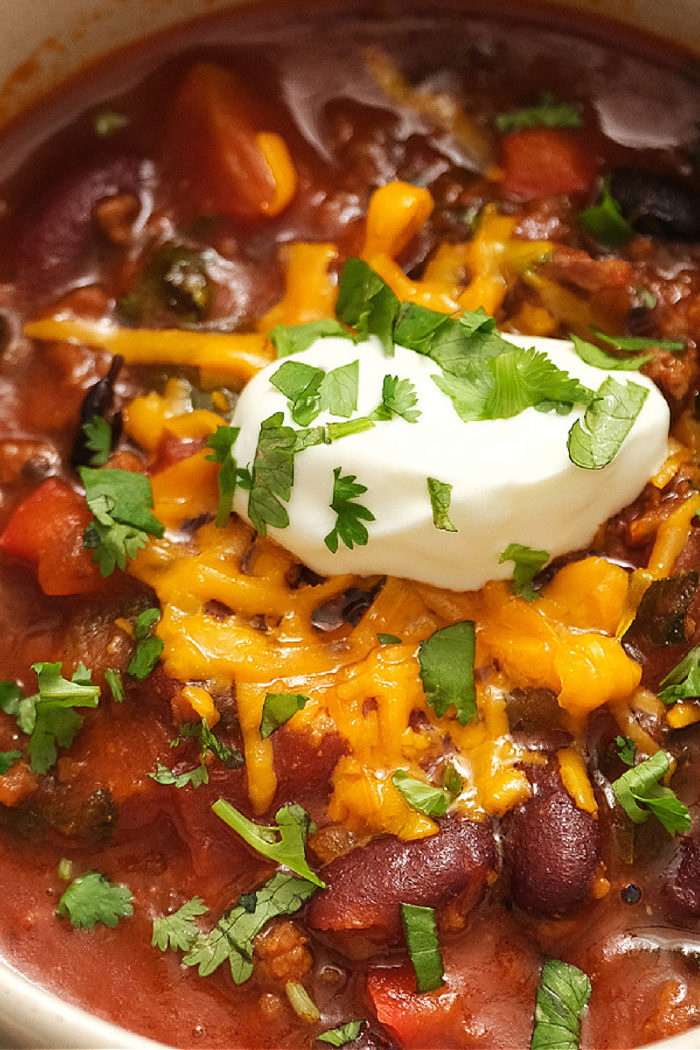
<svg viewBox="0 0 700 1050">
<path fill-rule="evenodd" d="M 262 857 L 283 864 L 316 886 L 325 886 L 306 862 L 306 838 L 311 831 L 315 831 L 315 825 L 302 806 L 296 803 L 283 805 L 275 815 L 276 827 L 253 823 L 224 798 L 214 802 L 212 810 Z"/>
</svg>

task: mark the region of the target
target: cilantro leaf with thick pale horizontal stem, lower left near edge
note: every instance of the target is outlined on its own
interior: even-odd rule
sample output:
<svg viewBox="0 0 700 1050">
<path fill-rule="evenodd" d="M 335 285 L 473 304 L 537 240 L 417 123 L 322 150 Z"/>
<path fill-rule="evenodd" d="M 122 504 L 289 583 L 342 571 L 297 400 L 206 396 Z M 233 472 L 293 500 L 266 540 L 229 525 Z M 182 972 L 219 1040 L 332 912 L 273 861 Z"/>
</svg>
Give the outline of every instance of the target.
<svg viewBox="0 0 700 1050">
<path fill-rule="evenodd" d="M 33 664 L 39 691 L 25 696 L 18 706 L 17 723 L 28 734 L 27 754 L 35 773 L 46 773 L 58 757 L 58 748 L 69 748 L 83 724 L 72 708 L 97 708 L 100 687 L 81 664 L 70 680 L 61 674 L 62 665 Z"/>
</svg>

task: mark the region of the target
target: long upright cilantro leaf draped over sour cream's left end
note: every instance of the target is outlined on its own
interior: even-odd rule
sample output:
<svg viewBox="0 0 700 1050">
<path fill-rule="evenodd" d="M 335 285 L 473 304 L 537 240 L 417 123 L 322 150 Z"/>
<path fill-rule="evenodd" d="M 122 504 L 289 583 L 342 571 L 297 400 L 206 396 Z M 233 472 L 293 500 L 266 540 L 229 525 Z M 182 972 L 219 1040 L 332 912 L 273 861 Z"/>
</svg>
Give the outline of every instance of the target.
<svg viewBox="0 0 700 1050">
<path fill-rule="evenodd" d="M 260 536 L 267 536 L 269 525 L 287 528 L 290 524 L 283 504 L 294 484 L 297 435 L 283 420 L 283 414 L 276 412 L 262 421 L 255 449 L 248 517 Z"/>
</svg>

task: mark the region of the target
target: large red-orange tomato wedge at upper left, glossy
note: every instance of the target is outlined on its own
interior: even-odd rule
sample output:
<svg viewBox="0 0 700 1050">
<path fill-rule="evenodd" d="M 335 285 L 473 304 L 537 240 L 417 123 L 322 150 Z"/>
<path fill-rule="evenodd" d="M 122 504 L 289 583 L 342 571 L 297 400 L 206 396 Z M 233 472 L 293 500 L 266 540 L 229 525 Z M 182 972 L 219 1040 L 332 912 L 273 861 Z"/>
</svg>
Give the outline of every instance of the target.
<svg viewBox="0 0 700 1050">
<path fill-rule="evenodd" d="M 170 107 L 164 154 L 194 206 L 253 219 L 276 215 L 296 191 L 283 140 L 258 130 L 242 84 L 211 62 L 192 67 Z"/>
</svg>

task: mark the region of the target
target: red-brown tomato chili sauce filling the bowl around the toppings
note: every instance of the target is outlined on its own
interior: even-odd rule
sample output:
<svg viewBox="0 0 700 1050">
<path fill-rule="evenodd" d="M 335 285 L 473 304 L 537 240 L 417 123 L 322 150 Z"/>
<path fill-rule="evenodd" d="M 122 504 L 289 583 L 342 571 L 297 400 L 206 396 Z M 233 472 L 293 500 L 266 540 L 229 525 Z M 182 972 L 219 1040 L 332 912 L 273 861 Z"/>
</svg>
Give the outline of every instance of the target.
<svg viewBox="0 0 700 1050">
<path fill-rule="evenodd" d="M 199 70 L 194 86 L 192 70 Z M 543 94 L 574 106 L 580 126 L 494 130 L 497 114 L 534 106 Z M 468 114 L 468 133 L 457 111 Z M 700 474 L 700 446 L 693 445 L 700 390 L 700 233 L 693 225 L 700 223 L 699 112 L 696 60 L 604 23 L 524 4 L 502 4 L 494 14 L 479 3 L 333 0 L 251 5 L 174 30 L 86 71 L 4 132 L 0 677 L 28 695 L 36 688 L 33 664 L 60 660 L 72 673 L 82 662 L 103 694 L 97 709 L 81 709 L 82 728 L 69 747 L 59 747 L 48 771 L 38 774 L 23 761 L 23 772 L 16 764 L 0 776 L 0 945 L 20 972 L 173 1046 L 312 1046 L 324 1030 L 361 1018 L 349 1044 L 357 1050 L 525 1047 L 547 957 L 592 980 L 584 1047 L 637 1046 L 700 1022 L 700 730 L 670 728 L 658 701 L 637 722 L 677 762 L 673 788 L 693 817 L 690 834 L 669 836 L 653 820 L 633 825 L 615 805 L 610 785 L 623 770 L 613 744 L 620 728 L 607 708 L 595 712 L 578 741 L 598 802 L 595 828 L 587 814 L 581 833 L 599 839 L 595 876 L 586 877 L 580 900 L 574 894 L 563 909 L 532 905 L 527 895 L 514 900 L 511 815 L 494 818 L 497 859 L 487 861 L 481 846 L 473 850 L 483 877 L 478 900 L 460 910 L 446 894 L 438 906 L 446 974 L 438 991 L 417 992 L 402 944 L 358 958 L 332 928 L 306 925 L 305 910 L 266 927 L 253 974 L 238 986 L 227 965 L 199 976 L 183 965 L 182 952 L 152 946 L 154 919 L 196 896 L 210 928 L 276 870 L 212 813 L 220 796 L 263 824 L 273 823 L 279 806 L 302 804 L 318 825 L 311 845 L 321 875 L 323 862 L 372 848 L 375 840 L 327 816 L 333 772 L 345 752 L 334 732 L 309 737 L 279 730 L 277 790 L 264 813 L 251 808 L 245 768 L 211 761 L 209 782 L 196 789 L 153 779 L 157 763 L 171 768 L 176 758 L 178 770 L 196 765 L 198 746 L 185 739 L 172 747 L 187 719 L 173 721 L 182 684 L 163 668 L 143 681 L 132 676 L 124 702 L 109 696 L 105 670 L 126 675 L 133 654 L 133 631 L 124 623 L 154 596 L 132 574 L 116 570 L 107 583 L 101 579 L 83 547 L 90 513 L 71 465 L 81 405 L 108 375 L 111 356 L 22 333 L 25 322 L 62 312 L 133 329 L 253 333 L 284 294 L 289 245 L 333 243 L 337 274 L 361 251 L 378 186 L 403 180 L 432 194 L 429 222 L 399 253 L 404 273 L 418 279 L 438 245 L 469 240 L 478 216 L 495 207 L 516 218 L 518 242 L 553 246 L 531 280 L 509 278 L 494 311 L 506 332 L 590 337 L 592 321 L 614 335 L 644 337 L 653 348 L 664 339 L 686 346 L 684 355 L 655 350 L 646 371 L 695 459 L 660 488 L 649 485 L 595 543 L 596 553 L 632 571 L 648 564 L 659 525 Z M 108 133 L 96 131 L 97 118 Z M 255 152 L 258 128 L 283 143 L 294 183 L 279 153 L 272 165 L 277 183 L 266 183 Z M 246 153 L 242 175 L 228 163 L 228 148 L 238 150 L 238 161 Z M 667 180 L 661 196 L 671 194 L 672 214 L 659 217 L 659 194 L 645 186 L 627 217 L 639 225 L 649 212 L 656 229 L 642 225 L 622 246 L 600 245 L 578 216 L 595 205 L 606 175 L 630 169 Z M 620 195 L 632 193 L 624 180 L 618 177 Z M 193 384 L 194 401 L 211 407 L 196 370 L 127 363 L 105 395 L 106 416 L 113 424 L 134 397 L 163 393 L 173 375 Z M 232 400 L 234 385 L 227 387 Z M 200 438 L 171 435 L 151 456 L 125 436 L 109 465 L 155 475 L 203 446 Z M 59 482 L 70 495 L 56 496 Z M 23 522 L 18 508 L 27 500 L 36 503 Z M 197 523 L 187 527 L 196 530 Z M 183 551 L 192 542 L 186 531 Z M 695 585 L 697 536 L 688 527 L 673 568 L 674 579 L 696 573 Z M 549 579 L 560 568 L 546 570 Z M 295 587 L 319 582 L 302 567 L 294 572 Z M 357 618 L 347 603 L 344 611 L 342 603 L 323 610 L 319 636 L 340 654 L 339 666 L 376 583 L 355 582 L 365 603 Z M 654 623 L 661 617 L 667 627 L 676 616 L 671 642 L 650 640 L 648 623 L 628 638 L 653 695 L 698 640 L 695 586 L 682 609 L 677 594 L 664 601 Z M 215 606 L 213 617 L 231 614 Z M 272 628 L 258 622 L 257 629 Z M 512 733 L 540 740 L 531 746 L 549 772 L 537 781 L 535 768 L 532 780 L 539 784 L 534 798 L 545 801 L 552 755 L 561 746 L 548 734 L 571 739 L 558 714 L 548 714 L 556 704 L 547 692 L 513 694 L 508 708 Z M 235 689 L 216 700 L 220 738 L 240 747 Z M 25 746 L 16 715 L 0 712 L 0 750 Z M 557 785 L 560 794 L 558 779 Z M 567 798 L 566 820 L 584 820 Z M 531 852 L 548 848 L 539 835 L 535 830 Z M 76 875 L 100 872 L 127 885 L 133 914 L 90 929 L 59 918 L 66 861 Z M 386 882 L 386 872 L 377 880 Z M 285 995 L 285 983 L 299 981 L 318 1008 L 312 1022 Z"/>
</svg>

